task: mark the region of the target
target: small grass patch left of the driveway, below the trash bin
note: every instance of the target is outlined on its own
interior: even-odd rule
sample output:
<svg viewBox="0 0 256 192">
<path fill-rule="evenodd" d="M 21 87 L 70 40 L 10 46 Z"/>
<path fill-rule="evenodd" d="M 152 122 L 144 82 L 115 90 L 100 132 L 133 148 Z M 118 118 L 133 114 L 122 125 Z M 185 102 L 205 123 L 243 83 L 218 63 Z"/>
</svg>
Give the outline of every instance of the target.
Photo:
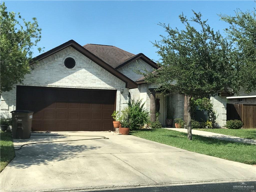
<svg viewBox="0 0 256 192">
<path fill-rule="evenodd" d="M 0 132 L 0 172 L 15 157 L 11 133 Z"/>
</svg>

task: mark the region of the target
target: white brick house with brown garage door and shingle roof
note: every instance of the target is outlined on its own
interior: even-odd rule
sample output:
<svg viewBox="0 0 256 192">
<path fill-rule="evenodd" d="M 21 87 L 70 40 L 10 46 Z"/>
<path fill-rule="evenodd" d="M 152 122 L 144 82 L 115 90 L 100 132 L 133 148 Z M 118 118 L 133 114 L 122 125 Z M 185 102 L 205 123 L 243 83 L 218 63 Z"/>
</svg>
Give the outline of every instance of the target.
<svg viewBox="0 0 256 192">
<path fill-rule="evenodd" d="M 70 40 L 35 57 L 30 66 L 33 70 L 22 84 L 1 94 L 1 117 L 10 117 L 13 110 L 34 111 L 34 131 L 112 130 L 112 112 L 122 111 L 131 99 L 142 99 L 153 119 L 157 99 L 163 126 L 167 115 L 184 117 L 184 95 L 164 97 L 155 92 L 156 85 L 134 72 L 159 68 L 142 53 L 108 45 L 81 46 Z M 226 121 L 226 97 L 220 98 L 213 99 L 221 114 L 218 126 L 223 117 Z"/>
</svg>

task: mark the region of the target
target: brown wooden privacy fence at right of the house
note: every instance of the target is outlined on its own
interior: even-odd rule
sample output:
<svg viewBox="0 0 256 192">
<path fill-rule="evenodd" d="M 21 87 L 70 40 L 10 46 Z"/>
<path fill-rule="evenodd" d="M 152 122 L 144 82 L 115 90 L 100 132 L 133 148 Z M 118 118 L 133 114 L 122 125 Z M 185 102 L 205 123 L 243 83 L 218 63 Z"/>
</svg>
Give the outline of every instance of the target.
<svg viewBox="0 0 256 192">
<path fill-rule="evenodd" d="M 235 119 L 243 122 L 244 129 L 256 128 L 256 105 L 227 103 L 227 120 Z"/>
</svg>

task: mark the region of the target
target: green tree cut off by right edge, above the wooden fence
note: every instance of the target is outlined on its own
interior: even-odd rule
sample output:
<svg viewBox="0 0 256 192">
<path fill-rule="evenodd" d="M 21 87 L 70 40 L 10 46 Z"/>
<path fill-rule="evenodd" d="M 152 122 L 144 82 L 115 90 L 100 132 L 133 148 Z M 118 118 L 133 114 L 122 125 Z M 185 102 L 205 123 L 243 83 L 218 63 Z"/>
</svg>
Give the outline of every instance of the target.
<svg viewBox="0 0 256 192">
<path fill-rule="evenodd" d="M 225 31 L 232 43 L 232 56 L 236 61 L 233 90 L 256 91 L 256 10 L 242 12 L 237 9 L 234 16 L 219 16 L 229 24 Z"/>
</svg>

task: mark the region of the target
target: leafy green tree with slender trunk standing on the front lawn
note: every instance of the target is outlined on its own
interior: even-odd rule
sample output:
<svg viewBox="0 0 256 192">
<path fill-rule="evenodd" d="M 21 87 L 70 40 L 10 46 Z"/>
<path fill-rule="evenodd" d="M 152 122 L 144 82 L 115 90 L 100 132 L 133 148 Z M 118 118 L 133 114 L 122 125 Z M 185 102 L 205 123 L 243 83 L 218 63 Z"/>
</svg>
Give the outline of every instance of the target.
<svg viewBox="0 0 256 192">
<path fill-rule="evenodd" d="M 200 13 L 190 20 L 179 15 L 184 29 L 160 23 L 167 35 L 153 44 L 157 47 L 160 69 L 144 73 L 145 81 L 158 84 L 163 93 L 187 95 L 188 139 L 191 134 L 191 98 L 202 98 L 227 91 L 232 86 L 234 68 L 230 43 L 214 31 Z"/>
</svg>

